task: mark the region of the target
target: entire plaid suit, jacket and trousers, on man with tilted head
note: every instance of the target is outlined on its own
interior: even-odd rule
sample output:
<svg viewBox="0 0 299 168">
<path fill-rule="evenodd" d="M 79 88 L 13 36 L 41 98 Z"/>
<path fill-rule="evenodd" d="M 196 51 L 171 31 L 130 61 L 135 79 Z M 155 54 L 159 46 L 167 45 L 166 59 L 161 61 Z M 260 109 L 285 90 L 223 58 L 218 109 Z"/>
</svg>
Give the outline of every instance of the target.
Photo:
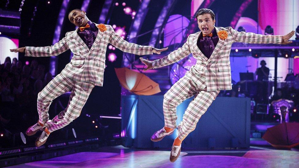
<svg viewBox="0 0 299 168">
<path fill-rule="evenodd" d="M 67 32 L 66 36 L 53 46 L 26 47 L 25 56 L 32 57 L 56 56 L 68 49 L 74 53 L 71 62 L 38 94 L 39 121 L 45 124 L 50 132 L 68 125 L 77 118 L 93 87 L 103 85 L 108 43 L 131 54 L 153 54 L 152 47 L 128 43 L 114 32 L 112 26 L 106 26 L 106 31 L 98 30 L 90 49 L 77 34 L 77 30 Z M 49 120 L 48 110 L 53 99 L 67 91 L 71 91 L 71 95 L 66 109 Z"/>
</svg>

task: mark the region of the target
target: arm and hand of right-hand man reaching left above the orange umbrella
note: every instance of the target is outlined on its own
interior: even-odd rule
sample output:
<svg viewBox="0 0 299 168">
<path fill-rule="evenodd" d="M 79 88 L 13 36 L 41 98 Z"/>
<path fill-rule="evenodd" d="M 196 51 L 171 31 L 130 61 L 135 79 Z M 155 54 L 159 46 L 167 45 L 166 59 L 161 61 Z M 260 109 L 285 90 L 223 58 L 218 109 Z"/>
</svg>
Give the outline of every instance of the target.
<svg viewBox="0 0 299 168">
<path fill-rule="evenodd" d="M 161 68 L 163 66 L 167 66 L 167 65 L 173 64 L 175 62 L 178 62 L 178 61 L 182 60 L 183 58 L 187 57 L 191 53 L 189 40 L 190 40 L 190 35 L 188 36 L 186 43 L 184 43 L 184 45 L 182 47 L 178 48 L 175 51 L 172 51 L 167 56 L 157 59 L 155 61 L 148 61 L 144 58 L 140 58 L 141 62 L 143 62 L 145 65 L 147 65 L 147 68 L 144 69 L 144 71 L 146 71 L 148 69 Z"/>
</svg>

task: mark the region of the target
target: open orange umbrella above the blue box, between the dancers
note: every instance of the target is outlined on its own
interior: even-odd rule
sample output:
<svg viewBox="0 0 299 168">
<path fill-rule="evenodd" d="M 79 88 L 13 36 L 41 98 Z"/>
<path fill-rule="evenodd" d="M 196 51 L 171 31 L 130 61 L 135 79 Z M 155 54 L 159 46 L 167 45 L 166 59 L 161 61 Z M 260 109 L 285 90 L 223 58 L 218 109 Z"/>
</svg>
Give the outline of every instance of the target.
<svg viewBox="0 0 299 168">
<path fill-rule="evenodd" d="M 161 92 L 159 84 L 143 73 L 127 68 L 115 68 L 115 73 L 120 84 L 136 95 L 153 95 Z"/>
</svg>

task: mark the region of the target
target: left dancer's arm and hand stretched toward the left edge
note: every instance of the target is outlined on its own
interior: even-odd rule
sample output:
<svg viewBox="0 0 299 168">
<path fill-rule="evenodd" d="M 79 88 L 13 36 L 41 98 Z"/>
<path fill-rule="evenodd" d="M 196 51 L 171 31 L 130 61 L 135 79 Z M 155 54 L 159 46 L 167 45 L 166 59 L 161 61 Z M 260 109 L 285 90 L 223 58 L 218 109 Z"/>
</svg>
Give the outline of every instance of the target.
<svg viewBox="0 0 299 168">
<path fill-rule="evenodd" d="M 61 39 L 58 43 L 47 47 L 21 47 L 10 49 L 11 52 L 25 52 L 25 56 L 29 57 L 51 57 L 59 55 L 69 49 L 66 43 L 66 37 Z"/>
</svg>

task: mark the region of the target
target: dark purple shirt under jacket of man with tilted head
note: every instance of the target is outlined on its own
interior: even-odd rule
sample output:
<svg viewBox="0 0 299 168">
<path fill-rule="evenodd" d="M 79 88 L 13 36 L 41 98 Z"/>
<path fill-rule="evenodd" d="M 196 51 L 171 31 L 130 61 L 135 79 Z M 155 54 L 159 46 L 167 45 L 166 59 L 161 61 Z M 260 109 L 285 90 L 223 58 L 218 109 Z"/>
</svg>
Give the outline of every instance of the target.
<svg viewBox="0 0 299 168">
<path fill-rule="evenodd" d="M 99 29 L 97 28 L 96 24 L 91 21 L 87 22 L 89 24 L 89 28 L 85 28 L 82 32 L 78 29 L 77 33 L 79 37 L 84 41 L 86 46 L 91 49 L 93 46 L 94 41 L 96 40 L 97 34 Z"/>
</svg>

